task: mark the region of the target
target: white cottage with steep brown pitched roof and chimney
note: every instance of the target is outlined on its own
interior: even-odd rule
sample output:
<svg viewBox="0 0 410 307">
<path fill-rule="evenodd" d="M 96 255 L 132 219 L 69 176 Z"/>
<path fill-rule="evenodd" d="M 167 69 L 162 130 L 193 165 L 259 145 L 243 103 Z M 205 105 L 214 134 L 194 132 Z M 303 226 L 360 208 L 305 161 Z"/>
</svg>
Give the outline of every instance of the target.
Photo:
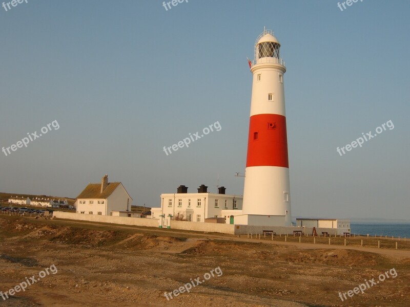
<svg viewBox="0 0 410 307">
<path fill-rule="evenodd" d="M 90 183 L 77 196 L 77 213 L 112 215 L 112 211 L 131 211 L 132 198 L 120 182 L 108 183 L 108 175 L 101 184 Z"/>
</svg>

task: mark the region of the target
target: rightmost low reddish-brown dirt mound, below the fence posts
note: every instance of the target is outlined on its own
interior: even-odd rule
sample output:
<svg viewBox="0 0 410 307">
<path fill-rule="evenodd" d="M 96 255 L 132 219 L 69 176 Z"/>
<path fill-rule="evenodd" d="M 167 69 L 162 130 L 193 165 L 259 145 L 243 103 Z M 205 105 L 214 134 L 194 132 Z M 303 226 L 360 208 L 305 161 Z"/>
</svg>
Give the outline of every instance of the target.
<svg viewBox="0 0 410 307">
<path fill-rule="evenodd" d="M 383 257 L 374 254 L 359 252 L 355 250 L 303 250 L 294 251 L 280 255 L 280 258 L 289 262 L 302 264 L 332 264 L 338 266 L 361 267 L 365 263 L 367 266 L 376 266 L 382 262 Z"/>
</svg>

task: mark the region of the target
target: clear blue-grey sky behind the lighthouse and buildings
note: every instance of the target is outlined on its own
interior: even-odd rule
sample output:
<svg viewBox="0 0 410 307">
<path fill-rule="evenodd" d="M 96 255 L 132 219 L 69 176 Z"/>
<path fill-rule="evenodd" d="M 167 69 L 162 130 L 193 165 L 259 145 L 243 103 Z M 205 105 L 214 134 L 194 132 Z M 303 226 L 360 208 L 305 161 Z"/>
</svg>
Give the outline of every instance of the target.
<svg viewBox="0 0 410 307">
<path fill-rule="evenodd" d="M 0 152 L 0 191 L 76 198 L 107 173 L 133 205 L 159 207 L 179 185 L 243 194 L 247 57 L 266 26 L 286 63 L 292 216 L 410 220 L 410 2 L 337 4 L 6 3 L 0 148 L 16 147 Z M 377 137 L 338 153 L 369 131 Z"/>
</svg>

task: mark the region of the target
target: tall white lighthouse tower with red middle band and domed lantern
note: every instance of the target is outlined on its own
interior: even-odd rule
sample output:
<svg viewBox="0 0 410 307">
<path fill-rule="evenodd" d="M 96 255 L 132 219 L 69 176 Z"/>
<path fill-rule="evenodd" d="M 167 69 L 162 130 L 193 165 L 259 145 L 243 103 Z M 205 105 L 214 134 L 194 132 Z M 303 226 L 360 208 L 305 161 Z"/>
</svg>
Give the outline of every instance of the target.
<svg viewBox="0 0 410 307">
<path fill-rule="evenodd" d="M 280 43 L 271 30 L 255 42 L 242 215 L 235 224 L 292 226 Z"/>
</svg>

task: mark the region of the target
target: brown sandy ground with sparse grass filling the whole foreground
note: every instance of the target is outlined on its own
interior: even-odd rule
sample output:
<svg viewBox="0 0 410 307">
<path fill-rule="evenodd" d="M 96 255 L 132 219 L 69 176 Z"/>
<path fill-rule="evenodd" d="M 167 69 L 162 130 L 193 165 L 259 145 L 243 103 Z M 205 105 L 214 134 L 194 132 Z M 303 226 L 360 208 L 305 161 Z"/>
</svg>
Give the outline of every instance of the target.
<svg viewBox="0 0 410 307">
<path fill-rule="evenodd" d="M 58 272 L 39 278 L 55 265 Z M 219 267 L 190 293 L 164 292 Z M 0 215 L 2 306 L 408 306 L 410 251 L 250 241 L 229 235 Z M 396 278 L 347 297 L 395 268 Z"/>
</svg>

